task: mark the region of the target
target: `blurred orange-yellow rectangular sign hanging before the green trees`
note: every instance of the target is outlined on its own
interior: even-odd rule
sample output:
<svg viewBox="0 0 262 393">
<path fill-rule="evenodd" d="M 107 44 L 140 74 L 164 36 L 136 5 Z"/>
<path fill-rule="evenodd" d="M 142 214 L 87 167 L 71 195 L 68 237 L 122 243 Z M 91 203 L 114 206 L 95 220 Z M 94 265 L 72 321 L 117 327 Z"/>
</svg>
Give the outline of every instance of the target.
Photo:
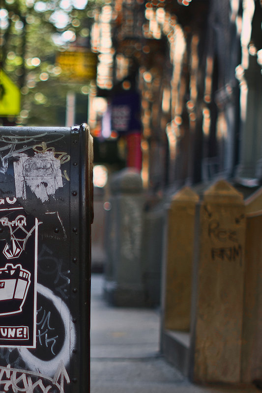
<svg viewBox="0 0 262 393">
<path fill-rule="evenodd" d="M 92 80 L 96 77 L 97 55 L 91 51 L 60 52 L 56 59 L 63 75 L 72 79 Z"/>
</svg>

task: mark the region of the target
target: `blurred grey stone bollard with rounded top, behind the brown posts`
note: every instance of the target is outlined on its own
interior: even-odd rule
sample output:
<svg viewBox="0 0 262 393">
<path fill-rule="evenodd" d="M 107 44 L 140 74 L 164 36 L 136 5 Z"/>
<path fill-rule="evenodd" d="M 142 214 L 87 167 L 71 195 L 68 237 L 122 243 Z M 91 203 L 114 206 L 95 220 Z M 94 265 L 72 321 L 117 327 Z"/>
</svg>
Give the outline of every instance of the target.
<svg viewBox="0 0 262 393">
<path fill-rule="evenodd" d="M 133 168 L 112 176 L 111 209 L 106 215 L 104 295 L 114 306 L 144 307 L 141 233 L 142 179 Z"/>
</svg>

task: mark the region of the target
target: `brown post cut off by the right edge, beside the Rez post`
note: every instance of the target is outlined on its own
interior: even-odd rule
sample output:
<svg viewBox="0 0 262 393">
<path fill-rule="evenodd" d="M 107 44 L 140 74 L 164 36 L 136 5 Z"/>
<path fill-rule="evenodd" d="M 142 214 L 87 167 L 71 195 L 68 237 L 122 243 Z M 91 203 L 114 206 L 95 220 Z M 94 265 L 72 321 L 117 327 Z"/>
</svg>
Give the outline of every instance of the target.
<svg viewBox="0 0 262 393">
<path fill-rule="evenodd" d="M 246 201 L 242 382 L 262 379 L 262 188 Z"/>
</svg>

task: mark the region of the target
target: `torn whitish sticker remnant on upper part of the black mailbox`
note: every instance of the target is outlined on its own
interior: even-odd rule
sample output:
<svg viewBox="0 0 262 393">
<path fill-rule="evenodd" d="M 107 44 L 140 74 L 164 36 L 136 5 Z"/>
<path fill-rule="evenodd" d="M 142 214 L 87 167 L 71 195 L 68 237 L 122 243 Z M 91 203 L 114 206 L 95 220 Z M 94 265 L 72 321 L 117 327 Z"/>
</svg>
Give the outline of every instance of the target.
<svg viewBox="0 0 262 393">
<path fill-rule="evenodd" d="M 27 198 L 26 185 L 42 202 L 63 187 L 60 161 L 52 151 L 35 153 L 33 157 L 20 154 L 14 162 L 15 187 L 17 198 Z"/>
</svg>

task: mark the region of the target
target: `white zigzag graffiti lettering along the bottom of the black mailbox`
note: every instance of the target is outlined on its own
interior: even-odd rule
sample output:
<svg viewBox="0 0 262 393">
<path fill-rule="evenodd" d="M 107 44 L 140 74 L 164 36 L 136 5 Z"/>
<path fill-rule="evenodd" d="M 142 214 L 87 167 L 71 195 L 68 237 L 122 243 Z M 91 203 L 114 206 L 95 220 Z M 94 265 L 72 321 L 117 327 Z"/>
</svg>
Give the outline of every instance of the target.
<svg viewBox="0 0 262 393">
<path fill-rule="evenodd" d="M 32 381 L 32 378 L 35 382 Z M 0 366 L 0 386 L 4 385 L 4 392 L 7 392 L 9 387 L 11 387 L 15 393 L 34 393 L 35 389 L 37 392 L 41 389 L 42 393 L 48 393 L 52 389 L 53 385 L 58 388 L 60 393 L 64 393 L 64 382 L 69 384 L 70 379 L 63 361 L 60 362 L 53 378 L 39 372 L 11 368 L 10 365 L 7 365 L 6 367 Z"/>
</svg>

